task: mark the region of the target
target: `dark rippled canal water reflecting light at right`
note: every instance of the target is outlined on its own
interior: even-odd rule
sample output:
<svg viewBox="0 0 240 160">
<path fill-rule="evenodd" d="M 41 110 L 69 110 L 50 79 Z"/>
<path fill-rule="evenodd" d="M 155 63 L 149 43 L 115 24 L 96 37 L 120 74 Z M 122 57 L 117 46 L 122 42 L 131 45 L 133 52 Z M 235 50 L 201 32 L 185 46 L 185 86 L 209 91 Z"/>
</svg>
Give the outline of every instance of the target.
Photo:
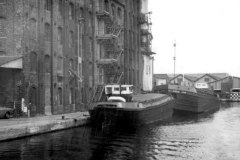
<svg viewBox="0 0 240 160">
<path fill-rule="evenodd" d="M 0 160 L 240 160 L 240 103 L 133 130 L 79 127 L 0 143 Z"/>
</svg>

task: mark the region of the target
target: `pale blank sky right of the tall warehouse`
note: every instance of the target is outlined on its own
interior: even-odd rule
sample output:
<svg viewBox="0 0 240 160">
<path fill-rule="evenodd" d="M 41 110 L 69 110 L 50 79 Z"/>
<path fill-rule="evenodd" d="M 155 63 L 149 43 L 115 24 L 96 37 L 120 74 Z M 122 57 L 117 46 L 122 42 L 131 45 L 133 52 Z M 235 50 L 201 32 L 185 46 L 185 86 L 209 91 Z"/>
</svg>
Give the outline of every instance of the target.
<svg viewBox="0 0 240 160">
<path fill-rule="evenodd" d="M 154 73 L 240 77 L 240 0 L 149 0 Z M 176 40 L 176 52 L 174 52 Z"/>
</svg>

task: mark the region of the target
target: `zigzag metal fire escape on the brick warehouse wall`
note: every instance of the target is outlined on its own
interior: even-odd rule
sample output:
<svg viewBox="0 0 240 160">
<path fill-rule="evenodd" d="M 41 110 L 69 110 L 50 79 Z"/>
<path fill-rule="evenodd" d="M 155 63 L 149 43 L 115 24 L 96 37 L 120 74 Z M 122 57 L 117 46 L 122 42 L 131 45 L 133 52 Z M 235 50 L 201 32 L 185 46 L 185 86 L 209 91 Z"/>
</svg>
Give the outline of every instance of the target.
<svg viewBox="0 0 240 160">
<path fill-rule="evenodd" d="M 105 55 L 96 60 L 98 68 L 103 68 L 106 76 L 110 79 L 110 84 L 120 83 L 123 77 L 124 69 L 120 66 L 119 60 L 123 54 L 123 47 L 119 47 L 118 38 L 123 31 L 123 24 L 118 24 L 110 15 L 108 9 L 97 7 L 96 15 L 98 19 L 103 20 L 105 28 L 102 34 L 98 34 L 96 39 L 99 44 L 105 48 Z M 96 86 L 91 102 L 101 100 L 104 91 L 104 85 Z"/>
</svg>

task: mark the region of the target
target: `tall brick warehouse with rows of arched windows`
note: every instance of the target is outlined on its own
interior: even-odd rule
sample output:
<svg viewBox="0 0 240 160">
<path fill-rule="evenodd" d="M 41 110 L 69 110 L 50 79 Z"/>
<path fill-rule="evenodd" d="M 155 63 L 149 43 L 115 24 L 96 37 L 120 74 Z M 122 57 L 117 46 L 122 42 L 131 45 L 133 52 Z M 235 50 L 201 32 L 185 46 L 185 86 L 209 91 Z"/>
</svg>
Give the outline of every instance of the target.
<svg viewBox="0 0 240 160">
<path fill-rule="evenodd" d="M 61 114 L 87 110 L 106 83 L 139 92 L 140 10 L 141 0 L 0 0 L 0 106 Z"/>
</svg>

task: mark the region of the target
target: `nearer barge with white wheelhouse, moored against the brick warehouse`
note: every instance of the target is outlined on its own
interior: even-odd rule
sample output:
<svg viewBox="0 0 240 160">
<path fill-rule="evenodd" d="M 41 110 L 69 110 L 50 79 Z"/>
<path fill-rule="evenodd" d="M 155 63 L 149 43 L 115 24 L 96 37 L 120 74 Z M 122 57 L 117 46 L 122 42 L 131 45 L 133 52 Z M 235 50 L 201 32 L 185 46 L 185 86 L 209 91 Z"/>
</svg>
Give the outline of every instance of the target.
<svg viewBox="0 0 240 160">
<path fill-rule="evenodd" d="M 133 94 L 132 85 L 106 85 L 105 100 L 89 109 L 93 125 L 138 126 L 172 116 L 173 97 L 166 94 Z"/>
</svg>

